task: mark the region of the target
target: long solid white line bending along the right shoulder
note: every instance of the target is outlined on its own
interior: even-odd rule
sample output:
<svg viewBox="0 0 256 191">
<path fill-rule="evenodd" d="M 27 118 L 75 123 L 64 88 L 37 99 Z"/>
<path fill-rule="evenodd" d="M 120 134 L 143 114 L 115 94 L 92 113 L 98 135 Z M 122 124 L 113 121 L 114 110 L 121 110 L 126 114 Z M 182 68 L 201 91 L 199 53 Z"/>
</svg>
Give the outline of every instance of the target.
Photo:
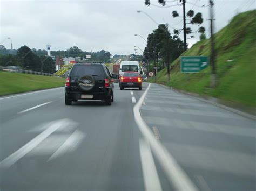
<svg viewBox="0 0 256 191">
<path fill-rule="evenodd" d="M 194 183 L 188 178 L 187 174 L 183 169 L 178 165 L 178 162 L 172 157 L 172 155 L 166 150 L 166 148 L 154 137 L 153 132 L 150 130 L 149 126 L 143 121 L 142 116 L 140 115 L 140 107 L 142 102 L 149 91 L 150 85 L 144 91 L 143 95 L 140 97 L 139 101 L 133 107 L 134 119 L 138 125 L 142 135 L 149 141 L 149 144 L 152 148 L 153 153 L 156 155 L 157 159 L 163 170 L 165 171 L 167 178 L 172 182 L 173 186 L 177 190 L 190 190 L 196 191 L 198 188 Z"/>
</svg>

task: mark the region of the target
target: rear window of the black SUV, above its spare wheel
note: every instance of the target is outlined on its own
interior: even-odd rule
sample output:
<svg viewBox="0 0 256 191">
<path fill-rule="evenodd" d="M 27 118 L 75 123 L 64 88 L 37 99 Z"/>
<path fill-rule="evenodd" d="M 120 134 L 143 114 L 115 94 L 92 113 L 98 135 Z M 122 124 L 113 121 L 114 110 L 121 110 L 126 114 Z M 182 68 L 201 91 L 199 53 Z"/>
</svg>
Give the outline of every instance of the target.
<svg viewBox="0 0 256 191">
<path fill-rule="evenodd" d="M 75 65 L 73 66 L 70 76 L 82 76 L 89 74 L 92 76 L 104 76 L 102 66 L 92 66 L 92 65 Z"/>
</svg>

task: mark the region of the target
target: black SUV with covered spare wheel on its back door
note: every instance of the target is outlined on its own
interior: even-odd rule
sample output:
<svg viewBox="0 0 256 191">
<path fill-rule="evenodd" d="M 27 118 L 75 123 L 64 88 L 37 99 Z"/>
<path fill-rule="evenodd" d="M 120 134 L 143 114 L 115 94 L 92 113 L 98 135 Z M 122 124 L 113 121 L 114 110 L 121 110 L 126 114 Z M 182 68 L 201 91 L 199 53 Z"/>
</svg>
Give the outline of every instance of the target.
<svg viewBox="0 0 256 191">
<path fill-rule="evenodd" d="M 114 85 L 109 69 L 102 63 L 76 63 L 66 79 L 65 104 L 77 100 L 114 101 Z"/>
</svg>

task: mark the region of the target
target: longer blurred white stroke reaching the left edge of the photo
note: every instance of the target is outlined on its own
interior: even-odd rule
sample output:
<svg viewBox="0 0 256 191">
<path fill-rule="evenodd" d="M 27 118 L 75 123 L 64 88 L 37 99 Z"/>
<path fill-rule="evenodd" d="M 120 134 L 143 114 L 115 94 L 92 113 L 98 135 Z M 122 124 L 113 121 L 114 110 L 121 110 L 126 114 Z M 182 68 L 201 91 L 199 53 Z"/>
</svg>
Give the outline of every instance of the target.
<svg viewBox="0 0 256 191">
<path fill-rule="evenodd" d="M 51 135 L 51 133 L 55 132 L 58 128 L 64 125 L 70 125 L 69 119 L 61 119 L 59 121 L 52 122 L 48 129 L 40 133 L 38 136 L 30 140 L 30 142 L 26 143 L 24 146 L 19 148 L 19 150 L 12 153 L 9 157 L 2 160 L 0 162 L 0 168 L 8 168 L 11 165 L 15 164 L 19 159 L 24 157 L 28 152 L 30 152 L 33 148 L 39 145 L 44 139 Z"/>
</svg>

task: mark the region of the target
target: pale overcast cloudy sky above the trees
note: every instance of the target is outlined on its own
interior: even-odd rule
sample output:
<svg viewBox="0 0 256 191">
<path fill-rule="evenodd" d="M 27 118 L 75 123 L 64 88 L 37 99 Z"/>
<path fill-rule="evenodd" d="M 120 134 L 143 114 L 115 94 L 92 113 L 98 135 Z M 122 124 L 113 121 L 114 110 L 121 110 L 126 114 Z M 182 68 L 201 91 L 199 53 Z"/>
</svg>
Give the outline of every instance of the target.
<svg viewBox="0 0 256 191">
<path fill-rule="evenodd" d="M 177 5 L 179 1 L 169 1 L 167 5 Z M 255 9 L 255 0 L 215 0 L 216 31 L 224 27 L 234 15 Z M 133 53 L 133 46 L 142 49 L 146 43 L 134 34 L 145 39 L 157 25 L 143 13 L 150 15 L 157 23 L 169 23 L 169 30 L 183 27 L 182 18 L 172 18 L 171 12 L 182 14 L 181 6 L 158 8 L 157 0 L 151 0 L 147 7 L 144 0 L 0 0 L 0 43 L 10 48 L 10 37 L 14 48 L 23 45 L 30 48 L 66 50 L 78 46 L 83 51 L 110 51 L 111 54 Z M 157 5 L 157 6 L 154 6 Z M 187 0 L 186 11 L 193 8 L 203 14 L 206 35 L 209 36 L 209 8 L 206 0 Z M 188 27 L 188 26 L 187 26 Z M 191 26 L 197 30 L 198 26 Z M 189 39 L 189 47 L 199 40 L 199 35 Z M 183 38 L 182 33 L 180 38 Z M 5 40 L 6 39 L 6 40 Z"/>
</svg>

